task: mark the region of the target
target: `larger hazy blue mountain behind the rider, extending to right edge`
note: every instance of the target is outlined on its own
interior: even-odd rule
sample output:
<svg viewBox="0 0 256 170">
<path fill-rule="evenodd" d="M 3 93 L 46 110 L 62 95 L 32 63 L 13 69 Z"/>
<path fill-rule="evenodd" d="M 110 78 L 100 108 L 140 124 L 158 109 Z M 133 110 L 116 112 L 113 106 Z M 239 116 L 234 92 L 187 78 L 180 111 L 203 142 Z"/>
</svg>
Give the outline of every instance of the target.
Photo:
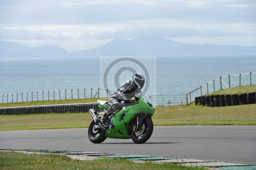
<svg viewBox="0 0 256 170">
<path fill-rule="evenodd" d="M 188 44 L 166 38 L 113 40 L 101 47 L 73 52 L 75 56 L 191 56 L 191 55 L 255 55 L 256 46 Z"/>
</svg>

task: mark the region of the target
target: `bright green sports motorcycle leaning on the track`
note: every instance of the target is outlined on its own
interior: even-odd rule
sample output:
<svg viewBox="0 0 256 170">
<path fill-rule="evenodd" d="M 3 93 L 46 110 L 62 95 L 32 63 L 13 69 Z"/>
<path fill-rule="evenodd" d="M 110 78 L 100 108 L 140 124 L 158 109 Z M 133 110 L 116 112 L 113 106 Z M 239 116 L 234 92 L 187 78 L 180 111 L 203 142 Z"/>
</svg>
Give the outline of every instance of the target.
<svg viewBox="0 0 256 170">
<path fill-rule="evenodd" d="M 109 108 L 108 101 L 97 100 L 101 110 Z M 122 110 L 109 116 L 106 125 L 100 124 L 98 115 L 104 114 L 90 109 L 92 123 L 88 129 L 88 137 L 92 143 L 101 143 L 108 138 L 130 139 L 134 143 L 145 143 L 153 132 L 153 122 L 151 117 L 156 111 L 156 107 L 150 101 L 146 93 L 138 93 L 134 100 L 124 104 Z"/>
</svg>

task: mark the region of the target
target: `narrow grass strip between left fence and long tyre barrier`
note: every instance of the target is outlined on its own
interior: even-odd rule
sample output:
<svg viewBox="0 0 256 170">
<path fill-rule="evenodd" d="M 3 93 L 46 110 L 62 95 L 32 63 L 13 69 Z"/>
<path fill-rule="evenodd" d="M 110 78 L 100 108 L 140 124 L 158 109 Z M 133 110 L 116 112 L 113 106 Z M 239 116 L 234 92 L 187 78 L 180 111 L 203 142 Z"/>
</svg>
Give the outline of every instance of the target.
<svg viewBox="0 0 256 170">
<path fill-rule="evenodd" d="M 68 99 L 68 100 L 44 100 L 33 102 L 18 102 L 18 103 L 4 103 L 0 107 L 18 107 L 18 106 L 37 106 L 37 105 L 52 105 L 52 104 L 75 104 L 75 103 L 94 103 L 97 100 L 108 100 L 108 98 L 86 98 L 86 99 Z"/>
</svg>

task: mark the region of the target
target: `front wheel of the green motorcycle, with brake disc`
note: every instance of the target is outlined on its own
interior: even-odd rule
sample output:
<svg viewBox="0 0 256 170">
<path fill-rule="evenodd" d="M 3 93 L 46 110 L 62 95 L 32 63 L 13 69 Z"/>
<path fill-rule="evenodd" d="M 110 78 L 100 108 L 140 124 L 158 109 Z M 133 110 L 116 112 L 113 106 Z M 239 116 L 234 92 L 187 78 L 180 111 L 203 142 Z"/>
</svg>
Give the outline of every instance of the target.
<svg viewBox="0 0 256 170">
<path fill-rule="evenodd" d="M 140 128 L 136 131 L 134 131 L 134 126 L 136 125 L 133 125 L 131 131 L 132 141 L 138 144 L 147 142 L 153 133 L 153 121 L 150 118 L 145 118 Z"/>
</svg>

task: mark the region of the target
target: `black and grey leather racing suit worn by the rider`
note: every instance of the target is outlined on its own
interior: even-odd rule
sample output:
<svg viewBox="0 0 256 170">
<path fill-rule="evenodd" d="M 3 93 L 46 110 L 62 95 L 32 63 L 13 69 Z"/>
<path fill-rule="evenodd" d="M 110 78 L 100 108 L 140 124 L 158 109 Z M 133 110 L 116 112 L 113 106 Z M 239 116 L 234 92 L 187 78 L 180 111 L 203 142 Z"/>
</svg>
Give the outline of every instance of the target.
<svg viewBox="0 0 256 170">
<path fill-rule="evenodd" d="M 141 93 L 140 89 L 132 83 L 131 80 L 125 81 L 108 99 L 108 104 L 110 104 L 109 109 L 106 114 L 112 114 L 117 110 L 123 108 L 121 101 L 130 100 L 135 94 Z"/>
</svg>

